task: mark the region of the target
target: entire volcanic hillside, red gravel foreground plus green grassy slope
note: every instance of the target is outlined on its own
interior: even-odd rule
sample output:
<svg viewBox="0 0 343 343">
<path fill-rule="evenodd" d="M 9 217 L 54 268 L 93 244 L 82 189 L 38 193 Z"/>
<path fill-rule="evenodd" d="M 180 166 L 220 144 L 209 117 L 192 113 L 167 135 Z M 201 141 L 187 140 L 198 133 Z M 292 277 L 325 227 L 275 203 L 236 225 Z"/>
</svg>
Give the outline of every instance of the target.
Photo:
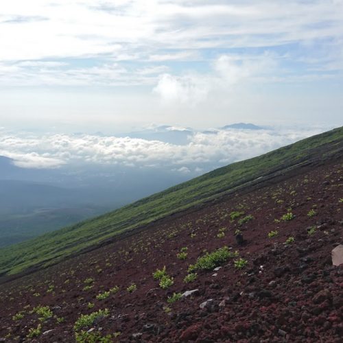
<svg viewBox="0 0 343 343">
<path fill-rule="evenodd" d="M 0 342 L 340 342 L 342 183 L 340 128 L 0 250 Z"/>
</svg>

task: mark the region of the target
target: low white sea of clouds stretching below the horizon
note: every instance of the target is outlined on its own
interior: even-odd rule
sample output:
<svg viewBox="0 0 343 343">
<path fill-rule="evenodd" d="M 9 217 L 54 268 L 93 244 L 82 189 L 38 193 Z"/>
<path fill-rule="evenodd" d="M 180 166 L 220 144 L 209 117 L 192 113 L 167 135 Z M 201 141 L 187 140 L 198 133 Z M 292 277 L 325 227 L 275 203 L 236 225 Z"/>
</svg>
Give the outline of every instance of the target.
<svg viewBox="0 0 343 343">
<path fill-rule="evenodd" d="M 56 168 L 69 164 L 168 167 L 183 174 L 213 169 L 257 156 L 312 134 L 311 130 L 217 130 L 194 132 L 187 145 L 90 134 L 9 134 L 2 130 L 0 156 L 20 167 Z"/>
</svg>

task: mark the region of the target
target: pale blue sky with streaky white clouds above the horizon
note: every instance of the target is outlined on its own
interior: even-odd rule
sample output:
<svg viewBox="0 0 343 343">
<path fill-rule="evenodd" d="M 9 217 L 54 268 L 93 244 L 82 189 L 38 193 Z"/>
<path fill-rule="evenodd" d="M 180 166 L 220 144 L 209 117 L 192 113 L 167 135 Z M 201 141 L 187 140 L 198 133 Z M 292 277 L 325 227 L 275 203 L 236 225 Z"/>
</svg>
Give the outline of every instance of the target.
<svg viewBox="0 0 343 343">
<path fill-rule="evenodd" d="M 342 125 L 343 1 L 0 4 L 0 126 Z"/>
</svg>

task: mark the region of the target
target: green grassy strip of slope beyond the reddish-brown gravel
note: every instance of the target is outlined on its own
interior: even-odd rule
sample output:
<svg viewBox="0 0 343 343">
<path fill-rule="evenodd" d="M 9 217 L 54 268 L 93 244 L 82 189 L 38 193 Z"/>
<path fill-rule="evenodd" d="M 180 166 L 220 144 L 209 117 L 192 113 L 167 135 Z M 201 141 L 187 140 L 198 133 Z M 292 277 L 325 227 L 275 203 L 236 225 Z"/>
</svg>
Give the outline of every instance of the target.
<svg viewBox="0 0 343 343">
<path fill-rule="evenodd" d="M 94 246 L 126 230 L 187 209 L 276 170 L 285 170 L 309 158 L 324 158 L 342 150 L 343 127 L 278 150 L 215 169 L 121 209 L 80 222 L 54 233 L 0 250 L 0 274 L 16 274 L 36 265 L 49 265 Z"/>
</svg>

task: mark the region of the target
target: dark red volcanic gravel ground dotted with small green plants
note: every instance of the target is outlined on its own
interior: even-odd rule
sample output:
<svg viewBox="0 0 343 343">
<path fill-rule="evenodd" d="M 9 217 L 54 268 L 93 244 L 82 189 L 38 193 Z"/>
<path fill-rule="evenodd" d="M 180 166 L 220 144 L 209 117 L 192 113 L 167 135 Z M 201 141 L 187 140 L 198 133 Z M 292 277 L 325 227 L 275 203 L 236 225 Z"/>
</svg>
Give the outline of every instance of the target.
<svg viewBox="0 0 343 343">
<path fill-rule="evenodd" d="M 0 342 L 74 342 L 76 320 L 99 309 L 108 316 L 83 329 L 111 334 L 113 342 L 342 342 L 343 265 L 331 262 L 331 250 L 343 244 L 342 163 L 300 169 L 0 285 Z M 233 211 L 245 214 L 232 221 Z M 281 220 L 287 212 L 294 218 Z M 253 219 L 239 226 L 246 215 Z M 268 237 L 271 231 L 277 235 Z M 289 237 L 294 241 L 285 244 Z M 183 281 L 189 264 L 223 246 L 238 250 L 245 268 L 230 259 L 220 270 L 198 270 L 196 281 Z M 183 247 L 185 260 L 176 257 Z M 164 265 L 174 277 L 167 289 L 152 276 Z M 94 281 L 85 283 L 88 278 Z M 137 289 L 128 292 L 132 284 Z M 116 285 L 117 293 L 96 298 Z M 174 292 L 192 289 L 198 291 L 167 303 Z M 39 320 L 32 311 L 38 305 L 52 316 Z M 23 318 L 12 318 L 19 313 Z M 27 338 L 38 324 L 40 335 Z"/>
</svg>

